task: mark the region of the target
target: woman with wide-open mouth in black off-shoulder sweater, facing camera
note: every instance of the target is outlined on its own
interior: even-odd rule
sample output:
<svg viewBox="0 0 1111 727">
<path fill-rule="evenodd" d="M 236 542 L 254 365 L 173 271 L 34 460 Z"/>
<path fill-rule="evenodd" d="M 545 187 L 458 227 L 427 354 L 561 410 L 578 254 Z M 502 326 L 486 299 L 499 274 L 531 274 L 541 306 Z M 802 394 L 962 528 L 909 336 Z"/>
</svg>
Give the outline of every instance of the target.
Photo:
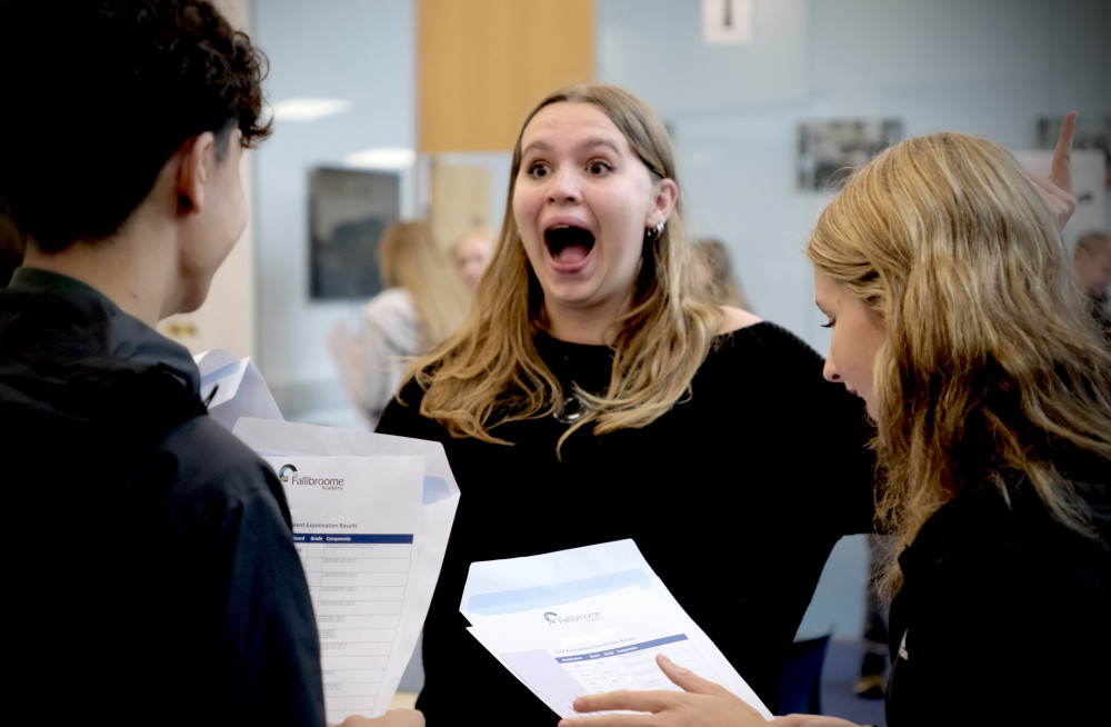
<svg viewBox="0 0 1111 727">
<path fill-rule="evenodd" d="M 601 84 L 544 98 L 469 318 L 382 415 L 380 432 L 441 442 L 461 490 L 424 624 L 433 726 L 556 721 L 467 631 L 476 560 L 632 538 L 775 704 L 830 549 L 870 528 L 860 402 L 787 330 L 697 298 L 683 207 L 647 104 Z M 729 592 L 708 592 L 723 554 Z"/>
</svg>

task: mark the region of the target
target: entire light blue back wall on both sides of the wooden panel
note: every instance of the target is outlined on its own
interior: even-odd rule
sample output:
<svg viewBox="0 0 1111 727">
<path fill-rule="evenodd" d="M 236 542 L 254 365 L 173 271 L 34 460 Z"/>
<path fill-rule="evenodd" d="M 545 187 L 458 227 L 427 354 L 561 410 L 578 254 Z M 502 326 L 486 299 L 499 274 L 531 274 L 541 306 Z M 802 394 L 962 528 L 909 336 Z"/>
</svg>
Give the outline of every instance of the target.
<svg viewBox="0 0 1111 727">
<path fill-rule="evenodd" d="M 1107 0 L 754 4 L 751 44 L 708 47 L 697 0 L 597 0 L 598 77 L 643 97 L 668 122 L 693 227 L 731 246 L 753 309 L 821 351 L 827 339 L 800 250 L 829 195 L 795 188 L 800 121 L 895 117 L 908 135 L 951 129 L 1018 150 L 1033 147 L 1041 117 L 1111 116 Z M 254 152 L 257 350 L 291 418 L 342 407 L 323 336 L 354 311 L 308 300 L 308 171 L 351 151 L 413 145 L 413 18 L 412 0 L 253 3 L 272 99 L 354 100 L 350 113 L 327 121 L 279 125 Z M 414 186 L 406 187 L 408 212 L 420 209 Z M 838 546 L 804 631 L 859 634 L 864 562 L 862 539 Z"/>
</svg>

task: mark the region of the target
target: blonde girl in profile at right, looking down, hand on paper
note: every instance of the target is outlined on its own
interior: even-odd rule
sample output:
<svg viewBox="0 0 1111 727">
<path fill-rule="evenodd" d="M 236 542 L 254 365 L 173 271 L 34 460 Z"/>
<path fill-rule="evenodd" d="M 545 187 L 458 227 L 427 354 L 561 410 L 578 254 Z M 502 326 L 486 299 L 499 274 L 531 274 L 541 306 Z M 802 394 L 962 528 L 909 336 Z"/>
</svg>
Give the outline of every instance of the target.
<svg viewBox="0 0 1111 727">
<path fill-rule="evenodd" d="M 983 139 L 911 139 L 849 181 L 807 255 L 833 329 L 824 374 L 875 421 L 877 512 L 898 544 L 888 727 L 1111 724 L 1111 351 L 1037 187 Z M 575 703 L 658 714 L 568 725 L 763 724 L 661 666 L 688 691 Z"/>
</svg>

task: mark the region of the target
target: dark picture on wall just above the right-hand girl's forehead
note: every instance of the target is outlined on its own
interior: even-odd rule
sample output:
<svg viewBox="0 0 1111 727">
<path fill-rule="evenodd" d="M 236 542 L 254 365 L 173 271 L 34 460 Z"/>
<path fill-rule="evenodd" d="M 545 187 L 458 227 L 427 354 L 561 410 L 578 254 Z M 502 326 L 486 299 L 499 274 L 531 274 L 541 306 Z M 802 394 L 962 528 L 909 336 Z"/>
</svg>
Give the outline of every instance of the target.
<svg viewBox="0 0 1111 727">
<path fill-rule="evenodd" d="M 834 190 L 854 169 L 902 139 L 898 119 L 832 119 L 799 126 L 799 188 Z"/>
</svg>

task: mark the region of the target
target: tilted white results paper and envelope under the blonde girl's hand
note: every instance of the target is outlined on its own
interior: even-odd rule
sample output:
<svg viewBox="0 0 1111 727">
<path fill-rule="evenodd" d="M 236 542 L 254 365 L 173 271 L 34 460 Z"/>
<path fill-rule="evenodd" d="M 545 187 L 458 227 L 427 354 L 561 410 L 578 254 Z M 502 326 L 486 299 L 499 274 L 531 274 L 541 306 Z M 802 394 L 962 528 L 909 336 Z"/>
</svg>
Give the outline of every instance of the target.
<svg viewBox="0 0 1111 727">
<path fill-rule="evenodd" d="M 632 540 L 471 564 L 459 610 L 560 717 L 579 714 L 571 704 L 587 694 L 678 689 L 655 664 L 660 653 L 772 716 Z"/>
</svg>

